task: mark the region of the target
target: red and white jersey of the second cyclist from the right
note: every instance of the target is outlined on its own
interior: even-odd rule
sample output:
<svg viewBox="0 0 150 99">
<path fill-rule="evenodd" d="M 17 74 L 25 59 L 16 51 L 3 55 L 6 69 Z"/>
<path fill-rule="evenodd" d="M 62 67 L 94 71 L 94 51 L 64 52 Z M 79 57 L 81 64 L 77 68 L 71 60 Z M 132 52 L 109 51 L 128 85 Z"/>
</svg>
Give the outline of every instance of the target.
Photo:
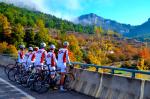
<svg viewBox="0 0 150 99">
<path fill-rule="evenodd" d="M 54 52 L 48 52 L 46 56 L 46 63 L 50 65 L 51 67 L 56 66 L 57 60 L 56 60 L 56 55 Z"/>
</svg>

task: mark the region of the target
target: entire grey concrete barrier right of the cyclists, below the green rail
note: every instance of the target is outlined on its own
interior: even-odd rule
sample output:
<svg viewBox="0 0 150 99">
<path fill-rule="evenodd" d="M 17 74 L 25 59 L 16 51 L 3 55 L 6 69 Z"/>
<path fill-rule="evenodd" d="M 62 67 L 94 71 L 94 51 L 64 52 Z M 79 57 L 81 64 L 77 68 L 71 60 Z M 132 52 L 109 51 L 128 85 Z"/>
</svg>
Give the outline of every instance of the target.
<svg viewBox="0 0 150 99">
<path fill-rule="evenodd" d="M 75 74 L 70 86 L 77 92 L 99 99 L 150 99 L 150 81 L 81 69 Z"/>
</svg>

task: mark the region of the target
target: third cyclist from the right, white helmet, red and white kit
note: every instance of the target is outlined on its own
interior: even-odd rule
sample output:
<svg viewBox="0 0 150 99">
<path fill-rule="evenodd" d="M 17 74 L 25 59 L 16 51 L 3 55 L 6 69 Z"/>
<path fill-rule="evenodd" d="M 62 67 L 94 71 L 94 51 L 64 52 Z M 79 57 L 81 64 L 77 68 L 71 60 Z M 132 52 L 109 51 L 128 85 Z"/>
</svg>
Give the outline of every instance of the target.
<svg viewBox="0 0 150 99">
<path fill-rule="evenodd" d="M 40 44 L 40 49 L 35 54 L 35 66 L 37 69 L 43 69 L 44 61 L 46 59 L 47 51 L 45 50 L 46 44 Z"/>
</svg>

